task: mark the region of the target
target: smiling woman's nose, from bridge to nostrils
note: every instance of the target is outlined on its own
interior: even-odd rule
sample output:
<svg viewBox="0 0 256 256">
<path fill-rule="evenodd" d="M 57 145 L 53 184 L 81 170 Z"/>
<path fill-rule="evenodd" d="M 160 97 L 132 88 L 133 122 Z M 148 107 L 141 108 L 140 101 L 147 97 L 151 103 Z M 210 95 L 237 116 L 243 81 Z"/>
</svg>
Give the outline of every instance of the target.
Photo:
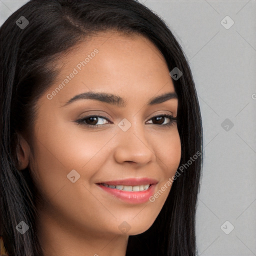
<svg viewBox="0 0 256 256">
<path fill-rule="evenodd" d="M 116 146 L 114 158 L 117 162 L 134 162 L 144 165 L 155 160 L 155 153 L 152 144 L 145 136 L 144 124 L 131 124 L 123 131 L 120 129 L 115 136 Z"/>
</svg>

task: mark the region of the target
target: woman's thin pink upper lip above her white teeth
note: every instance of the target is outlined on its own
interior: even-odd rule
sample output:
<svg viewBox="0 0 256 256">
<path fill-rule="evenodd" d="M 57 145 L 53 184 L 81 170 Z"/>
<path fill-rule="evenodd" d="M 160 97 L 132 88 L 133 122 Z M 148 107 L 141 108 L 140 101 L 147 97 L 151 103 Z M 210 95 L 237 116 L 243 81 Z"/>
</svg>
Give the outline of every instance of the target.
<svg viewBox="0 0 256 256">
<path fill-rule="evenodd" d="M 156 184 L 158 181 L 153 178 L 126 178 L 126 179 L 118 179 L 118 180 L 108 180 L 98 182 L 97 184 L 104 183 L 108 185 L 127 185 L 127 186 L 136 186 L 136 185 L 147 185 L 147 184 Z"/>
</svg>

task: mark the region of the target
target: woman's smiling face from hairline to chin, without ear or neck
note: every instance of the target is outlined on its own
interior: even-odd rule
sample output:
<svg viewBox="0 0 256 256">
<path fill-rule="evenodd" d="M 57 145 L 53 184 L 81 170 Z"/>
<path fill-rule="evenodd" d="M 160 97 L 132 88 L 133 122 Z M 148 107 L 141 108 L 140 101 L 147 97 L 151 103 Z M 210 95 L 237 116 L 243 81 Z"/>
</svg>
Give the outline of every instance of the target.
<svg viewBox="0 0 256 256">
<path fill-rule="evenodd" d="M 141 233 L 161 210 L 181 155 L 176 122 L 163 116 L 176 117 L 177 98 L 149 104 L 175 92 L 166 62 L 143 36 L 105 32 L 79 43 L 60 64 L 38 100 L 31 134 L 41 213 L 90 235 Z M 88 92 L 105 94 L 70 101 Z"/>
</svg>

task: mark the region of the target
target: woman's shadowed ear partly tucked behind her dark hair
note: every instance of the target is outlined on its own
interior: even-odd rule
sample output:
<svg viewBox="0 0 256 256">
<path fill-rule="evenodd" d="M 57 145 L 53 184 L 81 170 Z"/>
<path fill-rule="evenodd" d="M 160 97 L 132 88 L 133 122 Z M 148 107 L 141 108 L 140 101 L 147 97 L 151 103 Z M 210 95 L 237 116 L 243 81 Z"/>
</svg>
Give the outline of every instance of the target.
<svg viewBox="0 0 256 256">
<path fill-rule="evenodd" d="M 20 134 L 18 134 L 16 154 L 18 159 L 18 170 L 25 169 L 29 163 L 30 147 L 25 138 Z"/>
</svg>

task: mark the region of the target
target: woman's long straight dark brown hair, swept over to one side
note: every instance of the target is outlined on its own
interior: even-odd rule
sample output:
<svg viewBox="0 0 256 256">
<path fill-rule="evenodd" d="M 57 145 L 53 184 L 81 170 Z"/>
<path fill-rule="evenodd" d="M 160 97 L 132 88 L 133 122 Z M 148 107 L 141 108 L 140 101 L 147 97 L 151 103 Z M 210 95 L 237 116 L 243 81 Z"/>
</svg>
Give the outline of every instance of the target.
<svg viewBox="0 0 256 256">
<path fill-rule="evenodd" d="M 21 16 L 29 24 L 21 29 Z M 181 140 L 180 172 L 152 226 L 129 236 L 126 256 L 196 255 L 195 210 L 202 166 L 202 125 L 191 70 L 181 46 L 164 21 L 135 0 L 30 0 L 0 27 L 0 234 L 9 255 L 39 256 L 42 250 L 35 226 L 36 187 L 27 168 L 16 168 L 17 133 L 29 134 L 37 99 L 58 70 L 53 62 L 77 42 L 100 31 L 138 33 L 152 41 L 164 56 L 178 95 L 177 127 Z M 171 157 L 171 156 L 170 156 Z M 29 229 L 20 235 L 23 220 Z"/>
</svg>

